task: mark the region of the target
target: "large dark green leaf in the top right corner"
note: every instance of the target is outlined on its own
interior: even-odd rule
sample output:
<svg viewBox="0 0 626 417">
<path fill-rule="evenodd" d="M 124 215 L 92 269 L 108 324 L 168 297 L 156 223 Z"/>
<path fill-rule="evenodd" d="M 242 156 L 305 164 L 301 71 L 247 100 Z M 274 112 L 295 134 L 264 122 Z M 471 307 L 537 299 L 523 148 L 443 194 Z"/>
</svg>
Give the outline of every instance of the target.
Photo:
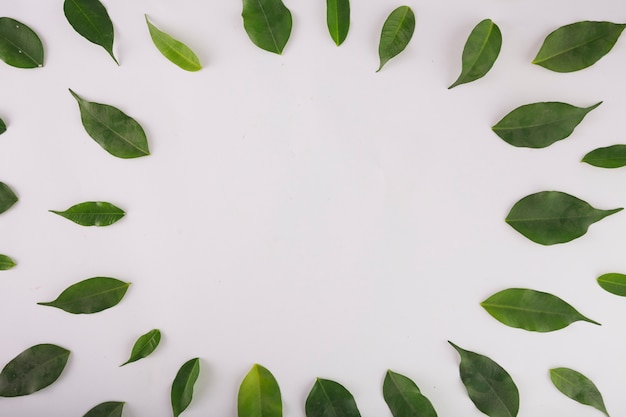
<svg viewBox="0 0 626 417">
<path fill-rule="evenodd" d="M 626 25 L 611 22 L 576 22 L 562 26 L 543 41 L 533 64 L 556 72 L 590 67 L 608 54 Z"/>
</svg>

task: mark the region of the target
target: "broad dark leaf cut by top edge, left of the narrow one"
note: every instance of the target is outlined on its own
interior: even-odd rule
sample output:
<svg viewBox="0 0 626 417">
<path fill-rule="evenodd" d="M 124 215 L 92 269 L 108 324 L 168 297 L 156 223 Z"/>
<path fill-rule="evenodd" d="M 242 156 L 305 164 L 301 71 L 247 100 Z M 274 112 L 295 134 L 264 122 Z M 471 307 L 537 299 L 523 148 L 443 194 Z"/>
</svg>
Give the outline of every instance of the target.
<svg viewBox="0 0 626 417">
<path fill-rule="evenodd" d="M 282 54 L 291 35 L 291 12 L 281 0 L 243 0 L 243 27 L 259 48 Z"/>
</svg>

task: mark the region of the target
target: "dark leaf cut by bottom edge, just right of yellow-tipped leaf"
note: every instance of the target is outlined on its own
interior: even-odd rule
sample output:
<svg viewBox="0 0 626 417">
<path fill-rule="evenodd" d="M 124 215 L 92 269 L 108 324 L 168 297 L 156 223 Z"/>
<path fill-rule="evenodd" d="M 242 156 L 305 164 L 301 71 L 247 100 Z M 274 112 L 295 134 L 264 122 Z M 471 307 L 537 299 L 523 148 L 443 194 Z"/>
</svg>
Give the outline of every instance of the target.
<svg viewBox="0 0 626 417">
<path fill-rule="evenodd" d="M 343 385 L 317 378 L 304 406 L 306 417 L 361 417 L 354 397 Z"/>
</svg>

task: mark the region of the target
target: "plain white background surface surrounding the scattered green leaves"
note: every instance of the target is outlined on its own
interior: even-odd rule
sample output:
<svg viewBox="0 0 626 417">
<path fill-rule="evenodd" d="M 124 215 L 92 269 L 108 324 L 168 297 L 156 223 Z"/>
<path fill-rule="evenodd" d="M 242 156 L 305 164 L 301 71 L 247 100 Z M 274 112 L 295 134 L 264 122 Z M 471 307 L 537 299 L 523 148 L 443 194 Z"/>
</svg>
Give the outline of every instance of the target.
<svg viewBox="0 0 626 417">
<path fill-rule="evenodd" d="M 626 300 L 595 282 L 626 271 L 626 214 L 552 247 L 504 222 L 517 200 L 542 190 L 602 209 L 626 205 L 626 170 L 579 162 L 626 140 L 626 43 L 576 73 L 530 64 L 552 30 L 623 21 L 623 3 L 406 4 L 413 39 L 375 73 L 380 29 L 401 5 L 391 0 L 353 2 L 339 48 L 324 1 L 289 1 L 294 26 L 282 56 L 250 42 L 239 1 L 108 0 L 120 67 L 74 32 L 61 1 L 0 3 L 46 50 L 40 69 L 0 65 L 0 181 L 20 197 L 0 216 L 0 253 L 18 262 L 0 276 L 0 363 L 38 343 L 72 351 L 55 384 L 0 399 L 1 415 L 81 416 L 117 400 L 127 417 L 168 416 L 171 381 L 198 356 L 189 417 L 235 416 L 254 363 L 277 378 L 288 417 L 304 416 L 316 377 L 342 383 L 363 416 L 390 416 L 381 392 L 389 368 L 411 377 L 440 416 L 480 416 L 447 340 L 507 369 L 520 417 L 600 415 L 552 386 L 557 366 L 591 378 L 609 412 L 626 411 Z M 161 56 L 144 13 L 204 69 L 187 73 Z M 447 90 L 484 18 L 502 30 L 500 57 L 485 78 Z M 152 155 L 106 153 L 68 88 L 138 120 Z M 522 104 L 601 100 L 546 149 L 514 148 L 490 129 Z M 96 200 L 127 216 L 84 228 L 48 212 Z M 36 304 L 93 276 L 132 286 L 94 315 Z M 510 287 L 558 295 L 602 326 L 506 327 L 479 303 Z M 163 333 L 154 354 L 119 368 L 152 328 Z"/>
</svg>

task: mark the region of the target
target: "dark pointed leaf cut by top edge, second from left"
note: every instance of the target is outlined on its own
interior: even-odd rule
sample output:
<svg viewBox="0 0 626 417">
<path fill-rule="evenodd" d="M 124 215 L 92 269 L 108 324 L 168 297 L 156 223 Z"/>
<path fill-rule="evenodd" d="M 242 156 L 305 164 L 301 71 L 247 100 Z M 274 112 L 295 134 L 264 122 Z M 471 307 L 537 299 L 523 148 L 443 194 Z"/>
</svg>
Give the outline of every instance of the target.
<svg viewBox="0 0 626 417">
<path fill-rule="evenodd" d="M 63 12 L 80 36 L 103 47 L 119 65 L 113 55 L 113 22 L 99 0 L 65 0 Z"/>
</svg>

